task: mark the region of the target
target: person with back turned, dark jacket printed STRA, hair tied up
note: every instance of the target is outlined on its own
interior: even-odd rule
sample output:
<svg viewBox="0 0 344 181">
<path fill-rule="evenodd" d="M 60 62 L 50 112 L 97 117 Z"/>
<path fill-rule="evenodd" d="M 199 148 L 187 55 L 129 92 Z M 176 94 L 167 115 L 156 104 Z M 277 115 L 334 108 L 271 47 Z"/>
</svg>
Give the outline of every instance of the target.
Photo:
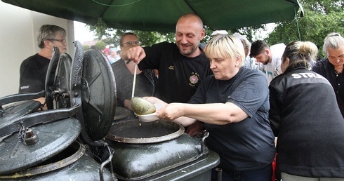
<svg viewBox="0 0 344 181">
<path fill-rule="evenodd" d="M 344 179 L 344 119 L 331 83 L 310 71 L 317 46 L 293 41 L 270 83 L 270 126 L 277 136 L 277 177 Z"/>
</svg>

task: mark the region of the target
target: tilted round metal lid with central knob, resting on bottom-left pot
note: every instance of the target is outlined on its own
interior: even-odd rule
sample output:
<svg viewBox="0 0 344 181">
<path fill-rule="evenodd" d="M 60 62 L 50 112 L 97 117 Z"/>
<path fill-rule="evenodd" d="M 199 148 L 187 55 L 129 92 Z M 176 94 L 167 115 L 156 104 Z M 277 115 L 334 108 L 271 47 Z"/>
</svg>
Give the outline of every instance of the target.
<svg viewBox="0 0 344 181">
<path fill-rule="evenodd" d="M 32 114 L 22 116 L 21 121 L 25 123 L 29 119 L 41 119 L 46 112 L 38 113 L 38 116 L 31 116 Z M 29 129 L 37 136 L 32 138 L 38 138 L 38 141 L 33 145 L 29 145 L 28 142 L 21 142 L 18 139 L 18 132 L 2 138 L 0 162 L 6 164 L 0 164 L 0 175 L 30 168 L 60 153 L 77 139 L 81 125 L 77 119 L 70 117 L 50 123 L 37 124 Z M 25 138 L 25 140 L 29 140 L 29 138 Z"/>
</svg>

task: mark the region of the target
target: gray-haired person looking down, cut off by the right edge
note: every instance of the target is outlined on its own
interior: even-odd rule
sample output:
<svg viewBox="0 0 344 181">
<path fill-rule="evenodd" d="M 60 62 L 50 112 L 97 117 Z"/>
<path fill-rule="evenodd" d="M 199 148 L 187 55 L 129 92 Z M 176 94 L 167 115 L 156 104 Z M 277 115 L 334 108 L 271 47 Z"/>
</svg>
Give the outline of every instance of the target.
<svg viewBox="0 0 344 181">
<path fill-rule="evenodd" d="M 318 61 L 312 67 L 312 71 L 329 80 L 336 93 L 340 112 L 344 117 L 344 38 L 338 33 L 327 35 L 324 39 L 323 50 L 327 58 Z"/>
</svg>

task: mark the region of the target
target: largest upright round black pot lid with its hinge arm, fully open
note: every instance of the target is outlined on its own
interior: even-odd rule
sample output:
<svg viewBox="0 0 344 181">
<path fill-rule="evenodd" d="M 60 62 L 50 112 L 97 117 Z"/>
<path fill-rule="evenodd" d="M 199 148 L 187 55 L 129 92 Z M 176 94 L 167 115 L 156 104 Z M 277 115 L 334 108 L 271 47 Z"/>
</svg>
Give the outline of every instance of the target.
<svg viewBox="0 0 344 181">
<path fill-rule="evenodd" d="M 91 140 L 101 140 L 114 121 L 117 99 L 114 73 L 102 52 L 90 48 L 83 53 L 79 41 L 75 41 L 74 46 L 76 51 L 70 79 L 71 105 L 82 107 L 82 114 L 77 114 L 82 130 L 86 130 Z"/>
</svg>

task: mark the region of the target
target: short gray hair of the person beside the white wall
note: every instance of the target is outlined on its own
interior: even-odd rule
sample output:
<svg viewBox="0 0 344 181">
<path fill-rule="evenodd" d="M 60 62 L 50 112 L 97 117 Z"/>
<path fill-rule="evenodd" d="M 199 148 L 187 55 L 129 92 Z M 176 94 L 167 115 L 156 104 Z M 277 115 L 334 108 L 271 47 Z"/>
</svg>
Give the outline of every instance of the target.
<svg viewBox="0 0 344 181">
<path fill-rule="evenodd" d="M 44 48 L 44 40 L 54 39 L 56 33 L 66 36 L 66 30 L 56 25 L 42 25 L 37 32 L 37 43 L 39 48 Z"/>
</svg>

